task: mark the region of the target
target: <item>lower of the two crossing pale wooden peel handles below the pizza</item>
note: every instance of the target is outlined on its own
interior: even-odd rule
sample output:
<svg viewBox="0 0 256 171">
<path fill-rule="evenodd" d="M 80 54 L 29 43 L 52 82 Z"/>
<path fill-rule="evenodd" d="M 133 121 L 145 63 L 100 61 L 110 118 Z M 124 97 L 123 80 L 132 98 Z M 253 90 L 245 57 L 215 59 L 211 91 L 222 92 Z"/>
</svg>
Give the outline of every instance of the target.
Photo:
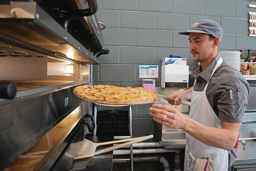
<svg viewBox="0 0 256 171">
<path fill-rule="evenodd" d="M 99 154 L 102 154 L 102 153 L 110 152 L 110 151 L 113 151 L 114 149 L 118 149 L 118 148 L 124 147 L 126 145 L 132 145 L 134 143 L 137 143 L 137 142 L 140 142 L 140 141 L 145 141 L 145 140 L 151 139 L 153 137 L 154 137 L 153 135 L 148 135 L 148 136 L 140 137 L 140 138 L 138 138 L 136 140 L 132 140 L 132 141 L 129 141 L 129 142 L 125 142 L 125 143 L 116 145 L 116 146 L 112 146 L 112 147 L 109 147 L 109 148 L 102 149 L 102 150 L 100 150 L 98 152 L 95 152 L 94 155 L 99 155 Z"/>
</svg>

